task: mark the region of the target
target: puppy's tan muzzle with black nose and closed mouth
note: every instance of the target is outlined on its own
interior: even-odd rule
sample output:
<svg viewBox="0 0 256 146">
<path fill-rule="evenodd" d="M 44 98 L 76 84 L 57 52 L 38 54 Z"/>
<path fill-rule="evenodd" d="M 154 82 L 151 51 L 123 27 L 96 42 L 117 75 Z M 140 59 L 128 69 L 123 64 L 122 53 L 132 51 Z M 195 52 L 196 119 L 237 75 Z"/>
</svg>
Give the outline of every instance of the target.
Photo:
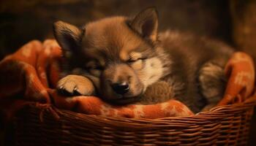
<svg viewBox="0 0 256 146">
<path fill-rule="evenodd" d="M 138 100 L 143 84 L 127 64 L 111 64 L 102 73 L 101 96 L 116 104 Z"/>
</svg>

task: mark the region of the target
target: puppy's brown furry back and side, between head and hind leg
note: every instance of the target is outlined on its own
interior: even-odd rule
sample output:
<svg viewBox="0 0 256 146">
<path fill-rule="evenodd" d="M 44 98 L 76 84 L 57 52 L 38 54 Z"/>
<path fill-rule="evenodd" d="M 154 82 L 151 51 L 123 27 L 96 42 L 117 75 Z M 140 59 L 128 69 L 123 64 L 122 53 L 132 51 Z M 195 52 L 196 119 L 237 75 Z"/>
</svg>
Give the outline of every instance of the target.
<svg viewBox="0 0 256 146">
<path fill-rule="evenodd" d="M 200 93 L 198 76 L 200 68 L 213 62 L 224 69 L 233 49 L 217 40 L 181 34 L 178 31 L 165 31 L 159 36 L 160 44 L 170 55 L 170 74 L 164 78 L 177 88 L 175 97 L 199 112 L 206 106 L 206 98 Z"/>
</svg>

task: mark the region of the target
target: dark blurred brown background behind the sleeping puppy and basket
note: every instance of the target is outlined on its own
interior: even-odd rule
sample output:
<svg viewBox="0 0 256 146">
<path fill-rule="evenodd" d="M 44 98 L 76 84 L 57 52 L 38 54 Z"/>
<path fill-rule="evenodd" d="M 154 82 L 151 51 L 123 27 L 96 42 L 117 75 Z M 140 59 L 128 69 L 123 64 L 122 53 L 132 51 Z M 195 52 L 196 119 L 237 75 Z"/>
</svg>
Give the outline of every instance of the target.
<svg viewBox="0 0 256 146">
<path fill-rule="evenodd" d="M 254 0 L 0 0 L 0 60 L 31 39 L 53 38 L 56 20 L 82 26 L 111 15 L 132 16 L 151 6 L 159 11 L 160 31 L 214 37 L 256 57 Z M 251 135 L 256 138 L 256 130 Z"/>
</svg>

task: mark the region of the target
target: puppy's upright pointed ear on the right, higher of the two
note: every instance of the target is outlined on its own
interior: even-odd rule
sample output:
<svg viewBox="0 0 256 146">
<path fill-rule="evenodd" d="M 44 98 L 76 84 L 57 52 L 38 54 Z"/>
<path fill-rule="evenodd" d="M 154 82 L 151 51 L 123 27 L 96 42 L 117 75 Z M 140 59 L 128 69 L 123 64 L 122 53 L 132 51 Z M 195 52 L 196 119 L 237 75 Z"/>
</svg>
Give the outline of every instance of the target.
<svg viewBox="0 0 256 146">
<path fill-rule="evenodd" d="M 151 39 L 152 42 L 157 40 L 158 14 L 157 9 L 149 7 L 140 12 L 130 23 L 131 27 L 142 37 Z"/>
</svg>

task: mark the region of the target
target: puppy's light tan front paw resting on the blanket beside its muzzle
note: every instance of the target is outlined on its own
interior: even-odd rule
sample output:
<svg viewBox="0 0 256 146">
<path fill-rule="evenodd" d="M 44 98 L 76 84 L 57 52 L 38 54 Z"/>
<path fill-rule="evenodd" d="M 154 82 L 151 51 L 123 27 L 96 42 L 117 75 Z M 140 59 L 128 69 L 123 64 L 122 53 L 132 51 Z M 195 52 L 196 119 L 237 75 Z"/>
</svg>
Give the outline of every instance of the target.
<svg viewBox="0 0 256 146">
<path fill-rule="evenodd" d="M 64 96 L 91 96 L 94 94 L 94 85 L 87 77 L 68 75 L 59 80 L 57 90 Z"/>
</svg>

